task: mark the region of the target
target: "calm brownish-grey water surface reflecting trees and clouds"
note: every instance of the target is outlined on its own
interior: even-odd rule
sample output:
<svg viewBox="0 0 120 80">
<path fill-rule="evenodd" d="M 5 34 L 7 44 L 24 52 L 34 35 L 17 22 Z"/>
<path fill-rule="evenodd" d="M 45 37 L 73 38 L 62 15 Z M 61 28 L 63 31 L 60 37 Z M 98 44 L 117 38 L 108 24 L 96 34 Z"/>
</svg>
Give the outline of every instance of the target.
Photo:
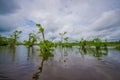
<svg viewBox="0 0 120 80">
<path fill-rule="evenodd" d="M 0 47 L 0 80 L 120 80 L 120 51 Z"/>
</svg>

